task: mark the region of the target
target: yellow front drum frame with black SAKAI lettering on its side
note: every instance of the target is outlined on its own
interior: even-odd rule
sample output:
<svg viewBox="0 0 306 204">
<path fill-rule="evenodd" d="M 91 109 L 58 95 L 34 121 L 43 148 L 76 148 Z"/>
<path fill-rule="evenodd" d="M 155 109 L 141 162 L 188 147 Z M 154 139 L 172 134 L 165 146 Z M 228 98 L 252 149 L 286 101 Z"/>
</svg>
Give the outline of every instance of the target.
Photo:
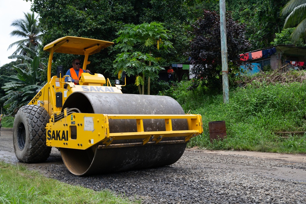
<svg viewBox="0 0 306 204">
<path fill-rule="evenodd" d="M 137 132 L 113 132 L 109 130 L 109 120 L 136 119 Z M 144 131 L 143 120 L 164 119 L 166 131 Z M 188 130 L 172 130 L 172 119 L 186 119 Z M 73 113 L 61 121 L 47 124 L 47 146 L 73 149 L 87 149 L 102 142 L 101 148 L 107 148 L 114 140 L 142 139 L 141 145 L 163 143 L 162 138 L 183 137 L 172 143 L 188 142 L 203 132 L 202 117 L 196 114 L 186 115 L 107 115 L 95 113 Z M 167 141 L 164 141 L 167 142 Z M 116 144 L 118 145 L 118 144 Z M 135 145 L 119 144 L 120 147 Z"/>
</svg>

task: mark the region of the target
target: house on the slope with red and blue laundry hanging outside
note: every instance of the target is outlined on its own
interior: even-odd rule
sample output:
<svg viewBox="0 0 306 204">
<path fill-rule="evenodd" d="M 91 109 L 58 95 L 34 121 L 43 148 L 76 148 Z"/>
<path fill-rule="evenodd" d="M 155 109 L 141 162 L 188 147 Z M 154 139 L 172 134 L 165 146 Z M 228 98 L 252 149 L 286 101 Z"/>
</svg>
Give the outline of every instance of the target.
<svg viewBox="0 0 306 204">
<path fill-rule="evenodd" d="M 283 67 L 283 71 L 294 69 L 306 69 L 306 47 L 293 45 L 277 45 L 264 49 L 254 50 L 240 54 L 241 66 L 247 64 L 270 65 L 272 70 Z"/>
</svg>

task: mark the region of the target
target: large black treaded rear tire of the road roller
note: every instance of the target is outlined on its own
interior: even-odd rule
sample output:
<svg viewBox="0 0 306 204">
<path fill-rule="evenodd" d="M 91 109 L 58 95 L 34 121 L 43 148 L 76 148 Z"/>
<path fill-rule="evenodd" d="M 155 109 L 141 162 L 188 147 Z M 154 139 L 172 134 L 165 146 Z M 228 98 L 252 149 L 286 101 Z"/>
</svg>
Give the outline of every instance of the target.
<svg viewBox="0 0 306 204">
<path fill-rule="evenodd" d="M 14 120 L 13 144 L 16 157 L 24 163 L 46 161 L 51 147 L 46 145 L 48 112 L 41 106 L 21 107 Z"/>
</svg>

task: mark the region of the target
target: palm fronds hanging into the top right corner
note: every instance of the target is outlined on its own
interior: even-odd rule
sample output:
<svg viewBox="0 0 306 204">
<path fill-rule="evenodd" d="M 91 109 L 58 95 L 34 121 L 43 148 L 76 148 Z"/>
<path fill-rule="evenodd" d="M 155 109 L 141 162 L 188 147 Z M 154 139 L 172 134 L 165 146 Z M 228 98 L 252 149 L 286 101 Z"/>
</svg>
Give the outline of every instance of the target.
<svg viewBox="0 0 306 204">
<path fill-rule="evenodd" d="M 306 0 L 290 0 L 281 11 L 281 15 L 290 13 L 284 24 L 284 28 L 296 27 L 291 34 L 291 39 L 306 38 Z"/>
</svg>

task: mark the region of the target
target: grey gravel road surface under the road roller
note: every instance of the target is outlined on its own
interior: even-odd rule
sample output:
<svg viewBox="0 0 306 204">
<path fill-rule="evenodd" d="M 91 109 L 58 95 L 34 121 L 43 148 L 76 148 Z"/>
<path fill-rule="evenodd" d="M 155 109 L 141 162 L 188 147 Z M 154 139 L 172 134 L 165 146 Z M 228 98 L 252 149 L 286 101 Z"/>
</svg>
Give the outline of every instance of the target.
<svg viewBox="0 0 306 204">
<path fill-rule="evenodd" d="M 12 129 L 1 129 L 0 160 L 22 164 L 14 154 Z M 306 203 L 304 154 L 192 148 L 170 166 L 79 177 L 66 169 L 54 148 L 47 162 L 23 165 L 67 184 L 109 189 L 141 203 Z"/>
</svg>

